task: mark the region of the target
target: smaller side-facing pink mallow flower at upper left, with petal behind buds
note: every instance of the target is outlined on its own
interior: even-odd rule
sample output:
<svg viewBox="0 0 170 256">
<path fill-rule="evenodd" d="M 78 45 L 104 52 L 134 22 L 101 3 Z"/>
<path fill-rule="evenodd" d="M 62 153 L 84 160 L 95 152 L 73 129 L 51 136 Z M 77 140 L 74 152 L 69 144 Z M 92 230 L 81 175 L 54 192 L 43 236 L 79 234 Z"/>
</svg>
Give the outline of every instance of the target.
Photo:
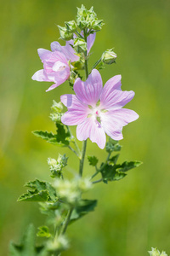
<svg viewBox="0 0 170 256">
<path fill-rule="evenodd" d="M 90 34 L 87 39 L 88 53 L 94 44 L 95 34 Z M 53 90 L 65 80 L 69 79 L 71 70 L 69 61 L 74 62 L 79 60 L 76 51 L 71 47 L 73 40 L 67 41 L 65 46 L 61 46 L 59 42 L 51 44 L 51 50 L 37 49 L 38 55 L 43 63 L 43 69 L 38 70 L 31 79 L 39 82 L 54 82 L 48 90 Z M 48 91 L 46 90 L 46 91 Z"/>
</svg>

